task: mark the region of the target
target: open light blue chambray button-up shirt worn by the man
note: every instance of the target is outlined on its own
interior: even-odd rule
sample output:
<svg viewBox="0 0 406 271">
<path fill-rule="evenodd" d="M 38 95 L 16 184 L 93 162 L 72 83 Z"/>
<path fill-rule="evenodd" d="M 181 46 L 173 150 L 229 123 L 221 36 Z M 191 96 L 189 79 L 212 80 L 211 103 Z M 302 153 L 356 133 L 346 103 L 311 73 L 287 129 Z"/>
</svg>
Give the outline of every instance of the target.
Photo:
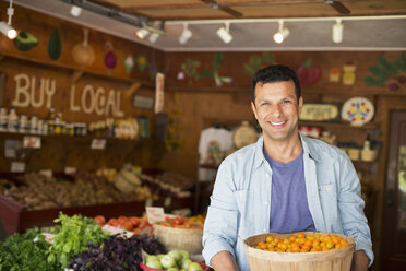
<svg viewBox="0 0 406 271">
<path fill-rule="evenodd" d="M 306 196 L 315 229 L 353 236 L 356 249 L 366 251 L 371 266 L 371 234 L 351 161 L 336 146 L 301 134 L 300 139 Z M 249 270 L 243 240 L 270 231 L 271 187 L 272 168 L 263 154 L 262 137 L 224 160 L 204 223 L 203 257 L 207 264 L 214 255 L 227 250 L 240 270 Z"/>
</svg>

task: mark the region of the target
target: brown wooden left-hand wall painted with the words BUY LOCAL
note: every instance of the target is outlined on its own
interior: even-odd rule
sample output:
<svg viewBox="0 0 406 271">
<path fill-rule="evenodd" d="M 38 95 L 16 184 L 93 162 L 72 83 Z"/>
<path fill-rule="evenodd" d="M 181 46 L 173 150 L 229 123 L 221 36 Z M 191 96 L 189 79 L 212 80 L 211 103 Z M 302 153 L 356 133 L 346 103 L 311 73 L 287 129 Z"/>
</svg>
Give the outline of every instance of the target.
<svg viewBox="0 0 406 271">
<path fill-rule="evenodd" d="M 0 2 L 0 9 L 5 10 L 7 4 Z M 50 108 L 55 108 L 63 114 L 63 120 L 68 122 L 89 123 L 106 118 L 146 116 L 153 138 L 153 109 L 134 108 L 132 99 L 135 93 L 154 96 L 155 73 L 162 71 L 164 61 L 162 51 L 88 30 L 88 46 L 93 48 L 95 58 L 89 64 L 80 64 L 72 51 L 83 44 L 82 26 L 19 5 L 15 7 L 13 26 L 34 35 L 38 43 L 29 50 L 19 50 L 13 42 L 0 35 L 1 106 L 8 109 L 14 107 L 19 115 L 31 117 L 35 114 L 41 119 L 46 119 Z M 61 45 L 57 59 L 48 55 L 48 42 L 55 30 L 59 33 Z M 116 66 L 108 69 L 105 56 L 111 49 Z M 123 62 L 130 55 L 134 67 L 132 71 L 127 71 Z M 47 95 L 47 90 L 51 94 Z M 22 139 L 19 134 L 0 136 L 2 154 L 5 140 Z M 92 137 L 43 137 L 41 149 L 27 150 L 25 157 L 11 160 L 1 155 L 0 170 L 10 170 L 13 161 L 24 162 L 26 170 L 61 172 L 65 166 L 120 168 L 126 162 L 155 167 L 165 151 L 162 142 L 151 140 L 108 140 L 105 151 L 92 150 L 91 142 Z"/>
</svg>

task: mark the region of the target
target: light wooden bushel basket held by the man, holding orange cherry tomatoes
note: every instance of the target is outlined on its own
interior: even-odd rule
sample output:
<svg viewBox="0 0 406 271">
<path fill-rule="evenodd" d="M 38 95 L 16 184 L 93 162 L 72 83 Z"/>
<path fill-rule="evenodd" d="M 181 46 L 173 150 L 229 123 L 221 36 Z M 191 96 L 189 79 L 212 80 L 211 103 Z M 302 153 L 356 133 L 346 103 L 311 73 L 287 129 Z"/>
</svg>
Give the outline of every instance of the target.
<svg viewBox="0 0 406 271">
<path fill-rule="evenodd" d="M 320 232 L 303 232 L 306 235 L 333 235 L 330 233 Z M 355 240 L 353 237 L 334 234 L 349 243 L 349 246 L 339 249 L 320 252 L 274 252 L 254 248 L 266 236 L 287 238 L 290 235 L 298 233 L 278 234 L 268 233 L 255 235 L 244 240 L 244 248 L 248 258 L 248 263 L 251 271 L 349 271 L 351 268 L 353 254 L 355 251 Z"/>
</svg>

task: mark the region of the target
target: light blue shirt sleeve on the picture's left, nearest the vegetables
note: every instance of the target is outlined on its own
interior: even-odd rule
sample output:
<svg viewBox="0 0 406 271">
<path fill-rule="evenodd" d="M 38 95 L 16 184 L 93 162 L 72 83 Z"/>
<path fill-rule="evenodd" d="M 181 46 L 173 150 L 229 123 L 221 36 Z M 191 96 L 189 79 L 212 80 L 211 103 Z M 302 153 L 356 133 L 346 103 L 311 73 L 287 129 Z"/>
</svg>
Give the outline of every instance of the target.
<svg viewBox="0 0 406 271">
<path fill-rule="evenodd" d="M 211 197 L 203 232 L 203 257 L 208 266 L 219 251 L 236 257 L 238 209 L 229 165 L 222 163 Z"/>
</svg>

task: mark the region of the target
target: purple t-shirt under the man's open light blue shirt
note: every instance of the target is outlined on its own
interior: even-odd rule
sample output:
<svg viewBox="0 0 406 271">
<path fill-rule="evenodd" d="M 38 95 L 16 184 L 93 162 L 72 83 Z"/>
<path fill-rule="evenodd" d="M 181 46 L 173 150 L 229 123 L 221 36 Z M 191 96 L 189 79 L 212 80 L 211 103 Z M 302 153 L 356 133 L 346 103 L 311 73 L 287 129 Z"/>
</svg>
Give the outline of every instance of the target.
<svg viewBox="0 0 406 271">
<path fill-rule="evenodd" d="M 303 151 L 285 164 L 264 155 L 272 168 L 271 233 L 315 231 L 306 193 Z"/>
</svg>

